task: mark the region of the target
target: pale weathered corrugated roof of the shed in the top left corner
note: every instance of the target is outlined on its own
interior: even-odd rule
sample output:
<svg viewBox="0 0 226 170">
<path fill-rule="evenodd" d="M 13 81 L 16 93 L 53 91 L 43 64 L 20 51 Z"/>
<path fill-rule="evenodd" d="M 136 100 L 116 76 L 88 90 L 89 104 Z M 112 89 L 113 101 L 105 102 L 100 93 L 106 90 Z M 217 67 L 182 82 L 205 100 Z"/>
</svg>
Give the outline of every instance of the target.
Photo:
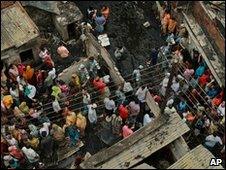
<svg viewBox="0 0 226 170">
<path fill-rule="evenodd" d="M 38 27 L 19 2 L 1 10 L 1 51 L 20 47 L 38 35 Z"/>
</svg>

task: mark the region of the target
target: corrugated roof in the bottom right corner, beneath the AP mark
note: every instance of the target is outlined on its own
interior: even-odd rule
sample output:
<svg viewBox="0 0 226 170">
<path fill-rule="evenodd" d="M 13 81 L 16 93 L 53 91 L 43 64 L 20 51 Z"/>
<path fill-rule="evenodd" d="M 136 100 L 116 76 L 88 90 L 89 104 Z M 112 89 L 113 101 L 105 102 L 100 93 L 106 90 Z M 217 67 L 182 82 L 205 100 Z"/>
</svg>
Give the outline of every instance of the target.
<svg viewBox="0 0 226 170">
<path fill-rule="evenodd" d="M 222 166 L 210 166 L 213 154 L 202 145 L 188 152 L 168 169 L 223 169 Z"/>
</svg>

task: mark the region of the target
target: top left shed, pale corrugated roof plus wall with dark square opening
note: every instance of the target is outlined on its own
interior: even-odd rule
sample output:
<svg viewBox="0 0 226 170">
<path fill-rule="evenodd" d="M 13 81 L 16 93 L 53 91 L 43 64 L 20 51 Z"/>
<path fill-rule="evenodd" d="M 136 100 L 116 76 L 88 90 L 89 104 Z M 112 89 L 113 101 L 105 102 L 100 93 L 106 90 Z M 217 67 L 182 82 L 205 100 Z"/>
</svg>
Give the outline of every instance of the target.
<svg viewBox="0 0 226 170">
<path fill-rule="evenodd" d="M 32 64 L 38 60 L 38 47 L 39 29 L 22 5 L 14 2 L 1 9 L 1 60 Z"/>
</svg>

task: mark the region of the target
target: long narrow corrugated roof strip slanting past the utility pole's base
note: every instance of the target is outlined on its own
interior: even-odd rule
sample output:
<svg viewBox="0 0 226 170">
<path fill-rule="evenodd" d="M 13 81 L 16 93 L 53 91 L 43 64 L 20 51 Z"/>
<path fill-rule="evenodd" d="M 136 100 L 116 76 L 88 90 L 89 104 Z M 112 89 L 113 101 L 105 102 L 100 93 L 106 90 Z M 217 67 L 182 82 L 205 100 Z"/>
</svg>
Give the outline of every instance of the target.
<svg viewBox="0 0 226 170">
<path fill-rule="evenodd" d="M 165 120 L 165 121 L 163 121 Z M 189 131 L 177 113 L 160 115 L 140 131 L 84 161 L 82 168 L 127 169 Z"/>
</svg>

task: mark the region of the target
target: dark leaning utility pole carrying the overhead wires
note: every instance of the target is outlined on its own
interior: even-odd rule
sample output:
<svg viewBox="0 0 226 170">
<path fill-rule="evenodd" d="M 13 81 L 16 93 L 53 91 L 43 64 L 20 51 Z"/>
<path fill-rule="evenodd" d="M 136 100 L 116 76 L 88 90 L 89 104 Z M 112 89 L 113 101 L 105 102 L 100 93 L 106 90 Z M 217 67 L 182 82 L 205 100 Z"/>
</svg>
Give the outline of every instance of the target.
<svg viewBox="0 0 226 170">
<path fill-rule="evenodd" d="M 170 97 L 169 95 L 170 95 L 170 91 L 171 91 L 171 85 L 172 85 L 173 77 L 177 75 L 177 69 L 178 69 L 178 60 L 174 59 L 172 61 L 172 68 L 171 68 L 171 72 L 170 72 L 169 81 L 168 81 L 168 84 L 167 84 L 167 87 L 166 87 L 166 93 L 165 93 L 164 100 L 163 100 L 162 105 L 161 105 L 161 110 L 160 110 L 161 114 L 165 114 L 164 110 L 166 108 L 166 103 L 168 101 L 168 98 Z"/>
</svg>

